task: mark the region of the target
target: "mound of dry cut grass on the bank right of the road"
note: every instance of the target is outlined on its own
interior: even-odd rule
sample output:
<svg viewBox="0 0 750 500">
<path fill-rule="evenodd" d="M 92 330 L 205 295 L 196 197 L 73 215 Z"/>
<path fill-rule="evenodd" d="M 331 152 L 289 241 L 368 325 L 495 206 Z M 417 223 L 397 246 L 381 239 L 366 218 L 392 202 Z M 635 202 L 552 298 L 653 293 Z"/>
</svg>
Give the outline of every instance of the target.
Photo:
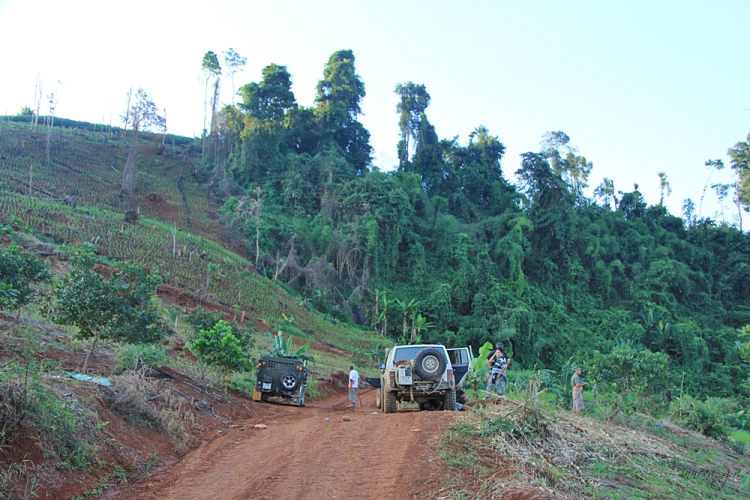
<svg viewBox="0 0 750 500">
<path fill-rule="evenodd" d="M 531 402 L 501 397 L 473 410 L 448 431 L 443 457 L 454 469 L 463 469 L 459 474 L 475 478 L 464 485 L 482 498 L 609 498 L 606 493 L 617 491 L 625 498 L 630 496 L 625 491 L 643 493 L 652 488 L 658 493 L 669 491 L 668 498 L 673 498 L 671 492 L 685 488 L 713 491 L 711 484 L 689 477 L 692 469 L 743 468 L 744 460 L 730 463 L 710 452 L 707 455 L 713 458 L 690 465 L 695 464 L 691 450 L 668 439 L 543 410 Z M 714 451 L 721 448 L 715 442 L 712 446 L 717 447 Z M 446 485 L 444 491 L 456 496 L 460 488 Z"/>
</svg>

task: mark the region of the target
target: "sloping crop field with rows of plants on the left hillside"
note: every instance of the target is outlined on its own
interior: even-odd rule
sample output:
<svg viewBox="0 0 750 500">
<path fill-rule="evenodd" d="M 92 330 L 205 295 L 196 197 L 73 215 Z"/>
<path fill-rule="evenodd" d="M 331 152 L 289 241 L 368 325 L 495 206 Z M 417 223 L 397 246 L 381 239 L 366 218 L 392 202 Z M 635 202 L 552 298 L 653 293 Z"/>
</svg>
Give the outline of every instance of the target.
<svg viewBox="0 0 750 500">
<path fill-rule="evenodd" d="M 143 134 L 136 192 L 121 197 L 129 140 L 108 136 L 105 142 L 102 133 L 55 128 L 48 164 L 41 130 L 0 127 L 0 218 L 16 215 L 58 244 L 96 243 L 102 255 L 150 266 L 165 283 L 271 325 L 294 316 L 294 326 L 317 342 L 351 349 L 379 340 L 375 332 L 334 325 L 307 309 L 218 243 L 226 236 L 212 220 L 216 207 L 194 178 L 187 148 L 162 149 L 159 138 Z M 139 213 L 137 222 L 125 222 L 128 210 Z"/>
</svg>

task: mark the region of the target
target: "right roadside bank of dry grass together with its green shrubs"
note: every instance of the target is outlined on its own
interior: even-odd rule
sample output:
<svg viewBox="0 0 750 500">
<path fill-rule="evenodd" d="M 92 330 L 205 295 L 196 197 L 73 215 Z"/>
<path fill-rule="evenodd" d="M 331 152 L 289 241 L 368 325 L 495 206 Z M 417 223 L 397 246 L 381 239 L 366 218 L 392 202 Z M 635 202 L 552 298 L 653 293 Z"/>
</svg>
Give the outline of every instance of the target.
<svg viewBox="0 0 750 500">
<path fill-rule="evenodd" d="M 450 473 L 438 496 L 750 498 L 743 400 L 669 389 L 667 364 L 631 344 L 597 353 L 582 417 L 571 411 L 572 359 L 559 372 L 510 370 L 507 397 L 470 403 L 444 434 Z"/>
</svg>

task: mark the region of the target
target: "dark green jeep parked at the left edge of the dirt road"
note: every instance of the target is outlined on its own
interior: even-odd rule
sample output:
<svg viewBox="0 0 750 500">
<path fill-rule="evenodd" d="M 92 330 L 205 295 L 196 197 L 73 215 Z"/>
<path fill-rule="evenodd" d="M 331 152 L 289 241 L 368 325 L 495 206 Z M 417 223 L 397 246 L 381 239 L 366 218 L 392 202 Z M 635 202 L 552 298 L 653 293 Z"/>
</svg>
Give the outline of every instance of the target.
<svg viewBox="0 0 750 500">
<path fill-rule="evenodd" d="M 255 368 L 254 401 L 267 401 L 269 397 L 291 400 L 296 406 L 305 404 L 307 367 L 299 359 L 261 356 Z"/>
</svg>

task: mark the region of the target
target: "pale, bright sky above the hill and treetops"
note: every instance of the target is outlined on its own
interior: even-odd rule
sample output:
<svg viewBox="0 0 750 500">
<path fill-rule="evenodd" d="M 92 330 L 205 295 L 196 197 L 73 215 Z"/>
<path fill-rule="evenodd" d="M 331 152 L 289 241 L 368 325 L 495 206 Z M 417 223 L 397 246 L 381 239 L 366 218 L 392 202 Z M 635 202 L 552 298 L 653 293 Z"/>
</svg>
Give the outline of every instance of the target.
<svg viewBox="0 0 750 500">
<path fill-rule="evenodd" d="M 237 87 L 270 63 L 287 66 L 297 101 L 311 105 L 328 57 L 352 49 L 380 168 L 396 163 L 393 88 L 412 81 L 427 86 L 441 138 L 465 143 L 482 124 L 505 143 L 511 181 L 518 155 L 562 130 L 593 161 L 592 189 L 603 177 L 618 190 L 638 183 L 656 204 L 665 171 L 666 204 L 680 215 L 685 198 L 700 203 L 704 162 L 728 164 L 750 132 L 748 20 L 747 0 L 0 0 L 0 114 L 33 107 L 41 75 L 57 116 L 119 124 L 128 88 L 141 86 L 171 132 L 198 135 L 206 51 L 247 57 Z M 231 88 L 223 83 L 224 102 Z M 703 215 L 721 220 L 718 211 L 709 188 Z"/>
</svg>

